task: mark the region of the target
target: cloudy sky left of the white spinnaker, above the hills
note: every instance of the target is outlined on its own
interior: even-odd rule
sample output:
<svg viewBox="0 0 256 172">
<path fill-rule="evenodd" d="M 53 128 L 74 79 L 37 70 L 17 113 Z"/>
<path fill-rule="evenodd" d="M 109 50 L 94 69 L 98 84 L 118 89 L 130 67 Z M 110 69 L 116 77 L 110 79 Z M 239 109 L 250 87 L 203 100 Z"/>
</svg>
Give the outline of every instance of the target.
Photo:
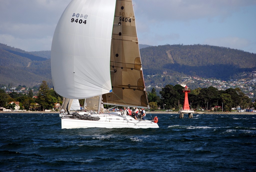
<svg viewBox="0 0 256 172">
<path fill-rule="evenodd" d="M 1 1 L 0 42 L 25 51 L 50 50 L 55 27 L 69 2 Z"/>
</svg>

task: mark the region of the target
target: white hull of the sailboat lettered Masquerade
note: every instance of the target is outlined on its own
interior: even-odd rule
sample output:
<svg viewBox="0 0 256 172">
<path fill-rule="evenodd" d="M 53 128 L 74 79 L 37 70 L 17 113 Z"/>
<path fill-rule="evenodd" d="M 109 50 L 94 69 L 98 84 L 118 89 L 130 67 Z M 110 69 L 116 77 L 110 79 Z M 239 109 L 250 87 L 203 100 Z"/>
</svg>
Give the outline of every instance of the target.
<svg viewBox="0 0 256 172">
<path fill-rule="evenodd" d="M 153 121 L 135 120 L 129 115 L 120 115 L 115 112 L 92 114 L 90 116 L 100 117 L 100 120 L 92 121 L 61 117 L 61 128 L 159 128 L 158 124 Z"/>
</svg>

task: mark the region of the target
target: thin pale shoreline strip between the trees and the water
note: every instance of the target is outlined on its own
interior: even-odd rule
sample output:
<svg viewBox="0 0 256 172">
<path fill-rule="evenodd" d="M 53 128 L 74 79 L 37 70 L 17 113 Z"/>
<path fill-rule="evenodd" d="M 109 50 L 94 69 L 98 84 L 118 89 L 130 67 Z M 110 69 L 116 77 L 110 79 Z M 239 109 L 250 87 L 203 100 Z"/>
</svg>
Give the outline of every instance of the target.
<svg viewBox="0 0 256 172">
<path fill-rule="evenodd" d="M 0 113 L 59 113 L 58 111 L 50 111 L 50 112 L 44 112 L 44 111 L 15 111 L 15 112 L 3 112 L 0 111 Z M 152 114 L 179 114 L 179 112 L 146 112 L 146 113 L 152 113 Z M 184 113 L 186 114 L 186 113 Z M 256 112 L 194 112 L 193 114 L 241 114 L 241 115 L 256 115 Z"/>
</svg>

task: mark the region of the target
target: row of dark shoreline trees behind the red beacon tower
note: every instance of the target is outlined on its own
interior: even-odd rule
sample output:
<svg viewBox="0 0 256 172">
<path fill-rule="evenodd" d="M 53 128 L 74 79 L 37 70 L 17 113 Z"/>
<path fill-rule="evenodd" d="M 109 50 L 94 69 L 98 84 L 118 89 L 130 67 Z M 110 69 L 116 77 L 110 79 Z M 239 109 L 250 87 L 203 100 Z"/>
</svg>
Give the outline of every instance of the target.
<svg viewBox="0 0 256 172">
<path fill-rule="evenodd" d="M 155 88 L 147 93 L 148 102 L 152 110 L 158 107 L 166 109 L 179 108 L 184 103 L 184 87 L 181 85 L 166 85 L 160 91 L 161 98 L 157 96 Z M 210 110 L 214 106 L 222 106 L 223 111 L 231 111 L 232 107 L 240 106 L 242 109 L 255 107 L 256 104 L 246 96 L 240 88 L 229 88 L 227 90 L 218 90 L 214 87 L 197 88 L 188 93 L 188 101 L 191 109 L 203 108 Z"/>
</svg>

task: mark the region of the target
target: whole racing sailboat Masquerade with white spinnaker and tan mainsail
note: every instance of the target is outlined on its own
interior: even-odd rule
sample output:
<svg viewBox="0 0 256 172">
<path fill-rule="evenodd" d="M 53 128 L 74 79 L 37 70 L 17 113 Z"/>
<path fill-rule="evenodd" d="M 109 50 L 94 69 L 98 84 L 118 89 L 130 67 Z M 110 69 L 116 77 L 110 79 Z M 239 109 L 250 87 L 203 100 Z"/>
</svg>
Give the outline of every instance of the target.
<svg viewBox="0 0 256 172">
<path fill-rule="evenodd" d="M 132 0 L 72 0 L 51 47 L 54 90 L 85 99 L 87 112 L 61 116 L 62 128 L 159 128 L 103 104 L 149 109 Z"/>
</svg>

